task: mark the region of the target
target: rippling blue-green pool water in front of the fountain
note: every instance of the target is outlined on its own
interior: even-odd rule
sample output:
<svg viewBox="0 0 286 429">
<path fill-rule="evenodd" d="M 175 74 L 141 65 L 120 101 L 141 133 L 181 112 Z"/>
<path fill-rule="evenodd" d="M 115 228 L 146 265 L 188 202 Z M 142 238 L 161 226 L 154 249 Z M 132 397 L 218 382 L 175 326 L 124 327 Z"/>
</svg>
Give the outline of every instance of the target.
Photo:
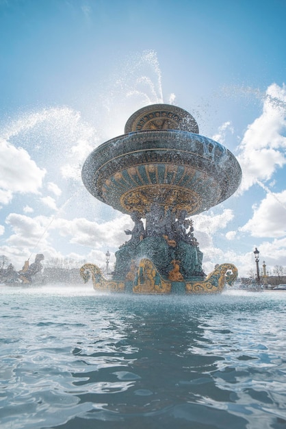
<svg viewBox="0 0 286 429">
<path fill-rule="evenodd" d="M 0 296 L 1 429 L 286 428 L 286 293 Z"/>
</svg>

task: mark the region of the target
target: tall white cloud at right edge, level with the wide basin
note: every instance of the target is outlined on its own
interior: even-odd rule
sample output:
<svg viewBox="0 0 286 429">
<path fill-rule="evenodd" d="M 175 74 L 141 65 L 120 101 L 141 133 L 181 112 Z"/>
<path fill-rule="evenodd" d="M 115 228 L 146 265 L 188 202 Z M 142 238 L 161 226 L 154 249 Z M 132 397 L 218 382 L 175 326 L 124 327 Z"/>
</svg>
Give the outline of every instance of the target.
<svg viewBox="0 0 286 429">
<path fill-rule="evenodd" d="M 270 180 L 278 167 L 286 164 L 285 120 L 286 88 L 272 84 L 263 100 L 263 113 L 248 126 L 239 145 L 242 184 L 246 191 L 257 180 Z"/>
</svg>

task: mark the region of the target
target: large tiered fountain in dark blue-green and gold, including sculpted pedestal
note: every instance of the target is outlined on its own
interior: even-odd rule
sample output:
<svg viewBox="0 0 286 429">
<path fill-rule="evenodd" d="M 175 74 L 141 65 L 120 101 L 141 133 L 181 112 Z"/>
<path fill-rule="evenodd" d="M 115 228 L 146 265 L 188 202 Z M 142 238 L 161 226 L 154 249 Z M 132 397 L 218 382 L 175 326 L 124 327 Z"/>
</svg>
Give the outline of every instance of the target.
<svg viewBox="0 0 286 429">
<path fill-rule="evenodd" d="M 116 252 L 112 279 L 94 264 L 81 267 L 94 289 L 133 293 L 218 293 L 237 278 L 231 263 L 209 275 L 194 237 L 191 215 L 220 204 L 238 188 L 235 156 L 198 134 L 185 110 L 153 104 L 131 115 L 125 134 L 97 147 L 82 180 L 100 201 L 131 215 L 131 238 Z M 145 225 L 142 221 L 145 219 Z"/>
</svg>

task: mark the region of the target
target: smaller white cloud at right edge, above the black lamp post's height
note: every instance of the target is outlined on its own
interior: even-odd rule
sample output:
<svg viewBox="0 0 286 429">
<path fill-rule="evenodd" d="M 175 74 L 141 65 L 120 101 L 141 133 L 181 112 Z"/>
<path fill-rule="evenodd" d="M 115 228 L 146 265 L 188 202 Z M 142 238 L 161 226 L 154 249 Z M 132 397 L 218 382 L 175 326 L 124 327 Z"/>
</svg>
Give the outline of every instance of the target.
<svg viewBox="0 0 286 429">
<path fill-rule="evenodd" d="M 268 193 L 259 206 L 254 206 L 251 219 L 240 231 L 255 237 L 278 238 L 286 235 L 286 191 Z"/>
</svg>

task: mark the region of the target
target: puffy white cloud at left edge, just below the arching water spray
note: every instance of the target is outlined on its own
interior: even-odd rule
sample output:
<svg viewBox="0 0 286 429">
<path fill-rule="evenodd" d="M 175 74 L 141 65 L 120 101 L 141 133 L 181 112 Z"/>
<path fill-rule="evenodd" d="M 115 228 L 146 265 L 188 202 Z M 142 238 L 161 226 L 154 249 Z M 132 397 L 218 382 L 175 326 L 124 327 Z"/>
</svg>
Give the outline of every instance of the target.
<svg viewBox="0 0 286 429">
<path fill-rule="evenodd" d="M 37 167 L 25 149 L 0 140 L 0 202 L 8 204 L 13 193 L 38 193 L 45 169 Z"/>
</svg>

